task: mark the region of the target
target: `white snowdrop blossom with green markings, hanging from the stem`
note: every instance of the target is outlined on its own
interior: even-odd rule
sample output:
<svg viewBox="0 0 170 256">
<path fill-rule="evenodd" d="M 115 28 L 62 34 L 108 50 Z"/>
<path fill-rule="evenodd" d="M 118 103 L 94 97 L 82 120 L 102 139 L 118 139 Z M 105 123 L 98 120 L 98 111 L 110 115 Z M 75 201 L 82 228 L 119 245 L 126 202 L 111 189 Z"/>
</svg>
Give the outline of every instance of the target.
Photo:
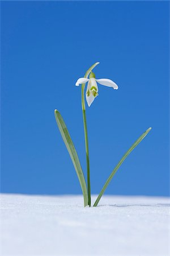
<svg viewBox="0 0 170 256">
<path fill-rule="evenodd" d="M 75 84 L 76 86 L 79 86 L 80 84 L 85 84 L 86 82 L 88 82 L 86 90 L 86 100 L 88 106 L 90 106 L 92 102 L 95 100 L 95 98 L 99 95 L 97 82 L 99 82 L 99 84 L 101 85 L 112 87 L 116 90 L 118 89 L 117 84 L 115 84 L 115 82 L 113 82 L 111 79 L 96 79 L 95 74 L 93 72 L 90 73 L 89 77 L 89 79 L 81 77 L 76 81 Z"/>
</svg>

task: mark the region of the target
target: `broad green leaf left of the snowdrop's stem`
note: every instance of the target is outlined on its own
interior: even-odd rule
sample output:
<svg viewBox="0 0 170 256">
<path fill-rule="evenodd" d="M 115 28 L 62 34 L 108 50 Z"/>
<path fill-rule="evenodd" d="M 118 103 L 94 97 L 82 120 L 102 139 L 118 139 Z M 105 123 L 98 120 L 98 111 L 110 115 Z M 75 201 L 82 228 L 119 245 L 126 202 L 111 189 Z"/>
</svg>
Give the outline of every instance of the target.
<svg viewBox="0 0 170 256">
<path fill-rule="evenodd" d="M 86 205 L 88 205 L 87 187 L 86 187 L 86 181 L 84 179 L 82 167 L 80 165 L 80 161 L 78 158 L 78 154 L 75 150 L 74 144 L 71 140 L 71 137 L 70 137 L 69 131 L 67 130 L 65 122 L 63 121 L 63 118 L 57 109 L 54 110 L 54 115 L 56 117 L 56 122 L 59 128 L 59 131 L 61 133 L 63 141 L 65 142 L 67 150 L 69 151 L 70 158 L 73 162 L 76 174 L 78 176 L 79 183 L 82 188 L 83 197 L 84 197 L 84 207 L 86 207 Z"/>
</svg>

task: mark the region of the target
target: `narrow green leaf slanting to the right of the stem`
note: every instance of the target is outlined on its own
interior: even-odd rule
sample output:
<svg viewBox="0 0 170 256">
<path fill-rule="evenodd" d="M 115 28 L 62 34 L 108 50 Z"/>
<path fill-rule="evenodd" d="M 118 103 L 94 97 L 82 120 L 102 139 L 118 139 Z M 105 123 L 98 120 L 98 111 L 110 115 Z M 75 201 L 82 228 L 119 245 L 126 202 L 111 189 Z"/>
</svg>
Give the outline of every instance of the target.
<svg viewBox="0 0 170 256">
<path fill-rule="evenodd" d="M 127 156 L 130 154 L 131 151 L 134 150 L 134 148 L 142 141 L 142 139 L 145 138 L 145 136 L 149 133 L 149 131 L 151 130 L 151 127 L 149 129 L 147 129 L 145 131 L 145 133 L 143 133 L 138 139 L 137 141 L 135 141 L 135 143 L 129 148 L 129 150 L 125 153 L 125 155 L 122 157 L 122 159 L 120 160 L 120 162 L 118 162 L 117 166 L 114 168 L 112 174 L 108 177 L 106 183 L 104 184 L 103 188 L 101 189 L 99 196 L 97 197 L 94 207 L 97 206 L 97 204 L 99 203 L 101 196 L 103 196 L 103 193 L 105 191 L 105 189 L 108 187 L 108 184 L 110 183 L 110 181 L 112 180 L 112 177 L 114 176 L 114 174 L 116 174 L 118 168 L 121 166 L 121 164 L 124 162 L 124 160 L 127 158 Z"/>
</svg>

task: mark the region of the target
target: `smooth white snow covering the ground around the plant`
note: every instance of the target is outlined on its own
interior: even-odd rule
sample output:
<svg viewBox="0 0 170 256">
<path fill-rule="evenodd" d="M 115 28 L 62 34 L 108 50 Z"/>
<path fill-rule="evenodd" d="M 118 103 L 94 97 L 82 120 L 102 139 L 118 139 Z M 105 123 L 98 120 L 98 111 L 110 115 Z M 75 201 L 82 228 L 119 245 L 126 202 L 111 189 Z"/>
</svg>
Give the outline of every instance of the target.
<svg viewBox="0 0 170 256">
<path fill-rule="evenodd" d="M 1 194 L 1 219 L 1 255 L 169 255 L 167 197 Z"/>
</svg>

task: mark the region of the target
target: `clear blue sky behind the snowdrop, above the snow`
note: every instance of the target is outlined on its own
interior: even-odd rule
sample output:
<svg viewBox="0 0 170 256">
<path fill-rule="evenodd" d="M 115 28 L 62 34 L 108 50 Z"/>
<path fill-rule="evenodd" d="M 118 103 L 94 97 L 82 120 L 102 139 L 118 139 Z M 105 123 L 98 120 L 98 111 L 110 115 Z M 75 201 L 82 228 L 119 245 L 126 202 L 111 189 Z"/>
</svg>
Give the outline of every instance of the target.
<svg viewBox="0 0 170 256">
<path fill-rule="evenodd" d="M 80 88 L 86 69 L 115 81 L 87 107 L 91 190 L 168 196 L 169 2 L 1 1 L 2 171 L 5 193 L 81 193 L 54 119 L 58 109 L 86 174 Z"/>
</svg>

